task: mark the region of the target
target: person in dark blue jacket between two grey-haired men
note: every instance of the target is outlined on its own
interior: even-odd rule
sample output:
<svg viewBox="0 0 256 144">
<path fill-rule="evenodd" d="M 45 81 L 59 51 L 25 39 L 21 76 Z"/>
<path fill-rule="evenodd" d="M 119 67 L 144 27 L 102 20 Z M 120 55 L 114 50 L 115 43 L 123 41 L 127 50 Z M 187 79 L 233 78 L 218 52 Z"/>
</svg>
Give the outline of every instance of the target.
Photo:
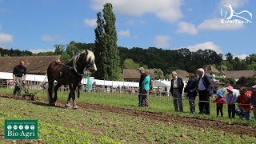
<svg viewBox="0 0 256 144">
<path fill-rule="evenodd" d="M 194 79 L 194 74 L 191 73 L 189 75 L 189 81 L 186 84 L 186 88 L 184 92 L 186 93 L 186 96 L 189 98 L 190 103 L 190 113 L 195 113 L 195 106 L 194 106 L 194 100 L 198 94 L 198 82 Z"/>
</svg>

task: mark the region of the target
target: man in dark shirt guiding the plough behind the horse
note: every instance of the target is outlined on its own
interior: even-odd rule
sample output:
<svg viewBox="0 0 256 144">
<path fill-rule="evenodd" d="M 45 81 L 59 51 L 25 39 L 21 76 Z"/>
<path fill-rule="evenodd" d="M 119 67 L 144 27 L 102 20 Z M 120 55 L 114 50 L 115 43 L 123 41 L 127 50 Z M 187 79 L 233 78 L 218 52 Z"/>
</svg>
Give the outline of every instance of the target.
<svg viewBox="0 0 256 144">
<path fill-rule="evenodd" d="M 22 85 L 26 80 L 26 66 L 23 61 L 19 62 L 19 65 L 14 67 L 13 78 L 15 83 L 14 94 L 20 97 Z"/>
</svg>

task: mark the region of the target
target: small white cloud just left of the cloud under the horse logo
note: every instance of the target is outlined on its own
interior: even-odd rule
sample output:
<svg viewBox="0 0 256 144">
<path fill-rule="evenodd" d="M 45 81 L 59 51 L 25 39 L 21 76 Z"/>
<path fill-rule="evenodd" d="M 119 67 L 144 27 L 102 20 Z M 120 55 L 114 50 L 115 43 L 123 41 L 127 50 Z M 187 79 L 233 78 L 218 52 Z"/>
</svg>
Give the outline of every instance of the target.
<svg viewBox="0 0 256 144">
<path fill-rule="evenodd" d="M 198 30 L 193 24 L 188 22 L 179 22 L 177 33 L 195 35 L 198 34 Z"/>
</svg>

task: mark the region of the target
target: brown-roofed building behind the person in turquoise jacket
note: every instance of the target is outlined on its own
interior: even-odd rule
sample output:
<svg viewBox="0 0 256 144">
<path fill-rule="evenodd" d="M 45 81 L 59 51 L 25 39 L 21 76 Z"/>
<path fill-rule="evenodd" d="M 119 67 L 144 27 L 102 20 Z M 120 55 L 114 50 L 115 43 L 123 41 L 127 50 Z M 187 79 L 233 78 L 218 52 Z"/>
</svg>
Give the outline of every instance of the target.
<svg viewBox="0 0 256 144">
<path fill-rule="evenodd" d="M 154 70 L 150 70 L 150 78 L 154 79 Z M 122 70 L 122 78 L 126 82 L 139 82 L 139 79 L 141 78 L 141 74 L 136 69 L 123 69 Z"/>
</svg>

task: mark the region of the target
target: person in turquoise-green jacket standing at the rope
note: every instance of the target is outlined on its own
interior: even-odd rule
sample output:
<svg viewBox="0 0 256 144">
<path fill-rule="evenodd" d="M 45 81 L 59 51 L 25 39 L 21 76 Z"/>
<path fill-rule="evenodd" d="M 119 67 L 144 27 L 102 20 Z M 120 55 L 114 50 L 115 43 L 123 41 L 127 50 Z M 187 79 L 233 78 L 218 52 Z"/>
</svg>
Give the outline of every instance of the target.
<svg viewBox="0 0 256 144">
<path fill-rule="evenodd" d="M 146 77 L 142 82 L 142 106 L 149 106 L 150 70 L 145 70 Z"/>
</svg>

